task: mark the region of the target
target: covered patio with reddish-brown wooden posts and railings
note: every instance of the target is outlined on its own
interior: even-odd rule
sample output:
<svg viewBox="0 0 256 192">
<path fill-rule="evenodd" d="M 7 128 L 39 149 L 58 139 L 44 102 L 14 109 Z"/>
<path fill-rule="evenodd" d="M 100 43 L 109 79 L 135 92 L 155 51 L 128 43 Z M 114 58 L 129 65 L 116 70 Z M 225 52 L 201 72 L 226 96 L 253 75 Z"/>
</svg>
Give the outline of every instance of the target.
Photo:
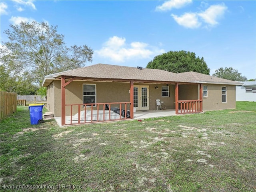
<svg viewBox="0 0 256 192">
<path fill-rule="evenodd" d="M 66 104 L 66 86 L 71 84 L 74 80 L 91 80 L 88 78 L 81 77 L 70 77 L 60 76 L 61 79 L 61 126 L 64 125 L 75 125 L 75 124 L 86 124 L 94 122 L 105 122 L 113 120 L 126 120 L 126 119 L 137 119 L 137 118 L 149 118 L 159 116 L 170 116 L 175 114 L 188 114 L 188 113 L 200 113 L 202 112 L 202 84 L 195 83 L 180 83 L 180 82 L 159 82 L 159 81 L 145 81 L 145 80 L 120 80 L 120 79 L 98 79 L 98 81 L 108 82 L 125 82 L 130 83 L 129 88 L 129 102 L 104 102 L 104 103 L 93 103 L 93 104 Z M 175 85 L 175 109 L 169 110 L 146 110 L 138 111 L 134 113 L 134 82 L 144 84 L 174 84 Z M 198 99 L 197 100 L 179 100 L 179 84 L 185 85 L 197 85 L 198 86 Z M 112 109 L 105 109 L 105 106 L 118 106 L 118 116 L 112 117 Z M 68 107 L 68 113 L 67 113 Z M 74 110 L 78 111 L 74 119 Z M 88 108 L 88 109 L 86 109 Z M 81 112 L 84 112 L 81 114 Z M 88 118 L 90 116 L 90 118 Z M 57 118 L 58 119 L 58 118 Z"/>
</svg>

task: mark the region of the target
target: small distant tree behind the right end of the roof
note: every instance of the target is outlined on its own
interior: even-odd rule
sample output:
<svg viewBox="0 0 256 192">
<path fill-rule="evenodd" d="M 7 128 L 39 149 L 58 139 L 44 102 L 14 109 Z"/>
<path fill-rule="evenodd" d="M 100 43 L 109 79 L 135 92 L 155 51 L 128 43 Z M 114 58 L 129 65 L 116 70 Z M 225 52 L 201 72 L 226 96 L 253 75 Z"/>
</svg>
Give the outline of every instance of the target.
<svg viewBox="0 0 256 192">
<path fill-rule="evenodd" d="M 230 68 L 218 68 L 215 70 L 215 73 L 212 74 L 212 76 L 223 78 L 223 79 L 228 79 L 232 81 L 246 81 L 247 78 L 246 76 L 242 76 L 241 73 L 238 72 L 238 70 L 233 69 L 232 67 Z"/>
</svg>

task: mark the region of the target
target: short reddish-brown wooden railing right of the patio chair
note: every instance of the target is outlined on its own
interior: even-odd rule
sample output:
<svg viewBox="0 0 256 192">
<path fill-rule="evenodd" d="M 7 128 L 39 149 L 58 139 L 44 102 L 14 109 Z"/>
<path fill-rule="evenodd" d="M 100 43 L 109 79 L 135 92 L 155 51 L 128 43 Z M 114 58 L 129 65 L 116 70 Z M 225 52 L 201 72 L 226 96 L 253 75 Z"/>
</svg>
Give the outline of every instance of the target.
<svg viewBox="0 0 256 192">
<path fill-rule="evenodd" d="M 179 100 L 178 114 L 202 112 L 202 100 Z"/>
</svg>

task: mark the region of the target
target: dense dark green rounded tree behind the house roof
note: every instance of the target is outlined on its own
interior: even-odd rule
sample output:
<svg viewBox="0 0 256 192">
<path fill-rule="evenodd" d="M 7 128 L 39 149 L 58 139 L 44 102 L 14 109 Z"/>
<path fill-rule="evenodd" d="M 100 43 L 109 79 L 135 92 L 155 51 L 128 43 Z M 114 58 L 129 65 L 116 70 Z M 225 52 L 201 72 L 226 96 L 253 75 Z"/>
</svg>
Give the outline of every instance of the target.
<svg viewBox="0 0 256 192">
<path fill-rule="evenodd" d="M 194 52 L 186 51 L 169 51 L 155 56 L 146 68 L 162 69 L 173 73 L 194 71 L 207 75 L 210 74 L 210 68 L 208 68 L 203 57 L 196 57 Z"/>
</svg>

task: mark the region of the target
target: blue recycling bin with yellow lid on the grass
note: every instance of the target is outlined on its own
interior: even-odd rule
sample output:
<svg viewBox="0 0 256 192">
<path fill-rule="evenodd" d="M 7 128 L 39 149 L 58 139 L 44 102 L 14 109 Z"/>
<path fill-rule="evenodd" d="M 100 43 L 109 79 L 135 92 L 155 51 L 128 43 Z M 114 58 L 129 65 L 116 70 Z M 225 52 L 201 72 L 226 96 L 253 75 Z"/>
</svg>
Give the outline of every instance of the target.
<svg viewBox="0 0 256 192">
<path fill-rule="evenodd" d="M 30 122 L 32 125 L 43 122 L 43 106 L 44 104 L 30 104 L 28 106 L 30 111 Z"/>
</svg>

